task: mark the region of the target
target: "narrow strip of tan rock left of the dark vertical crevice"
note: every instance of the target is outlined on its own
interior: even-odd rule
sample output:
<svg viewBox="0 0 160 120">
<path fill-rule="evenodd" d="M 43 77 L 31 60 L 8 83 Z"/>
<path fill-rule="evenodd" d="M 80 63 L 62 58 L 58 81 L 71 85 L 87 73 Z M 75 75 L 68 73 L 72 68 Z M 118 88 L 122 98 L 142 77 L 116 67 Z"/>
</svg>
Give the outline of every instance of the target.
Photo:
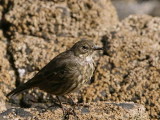
<svg viewBox="0 0 160 120">
<path fill-rule="evenodd" d="M 0 30 L 0 112 L 6 109 L 6 93 L 13 89 L 15 74 L 7 58 L 7 43 Z"/>
</svg>

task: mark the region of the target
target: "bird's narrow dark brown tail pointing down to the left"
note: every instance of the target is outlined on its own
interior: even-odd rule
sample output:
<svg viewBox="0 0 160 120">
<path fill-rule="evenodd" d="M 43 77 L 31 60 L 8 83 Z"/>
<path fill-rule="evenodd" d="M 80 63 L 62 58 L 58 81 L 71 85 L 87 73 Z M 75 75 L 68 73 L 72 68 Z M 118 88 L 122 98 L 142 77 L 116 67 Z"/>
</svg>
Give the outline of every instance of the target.
<svg viewBox="0 0 160 120">
<path fill-rule="evenodd" d="M 15 88 L 14 90 L 12 90 L 12 91 L 11 91 L 10 93 L 8 93 L 6 96 L 7 96 L 7 97 L 9 97 L 9 96 L 12 97 L 12 96 L 14 96 L 14 95 L 16 95 L 16 94 L 19 94 L 19 93 L 23 92 L 24 90 L 30 89 L 30 88 L 32 88 L 32 87 L 34 87 L 33 81 L 32 81 L 32 80 L 31 80 L 31 81 L 29 80 L 28 82 L 26 82 L 26 83 L 18 86 L 18 87 Z"/>
</svg>

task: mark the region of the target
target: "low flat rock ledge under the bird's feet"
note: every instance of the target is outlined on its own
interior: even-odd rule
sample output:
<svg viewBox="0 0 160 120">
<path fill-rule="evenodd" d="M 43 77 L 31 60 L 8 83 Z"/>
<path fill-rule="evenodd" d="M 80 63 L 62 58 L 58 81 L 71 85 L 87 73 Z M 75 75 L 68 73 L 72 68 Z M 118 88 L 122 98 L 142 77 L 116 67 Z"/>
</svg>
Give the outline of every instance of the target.
<svg viewBox="0 0 160 120">
<path fill-rule="evenodd" d="M 65 105 L 68 109 L 69 105 Z M 80 120 L 149 120 L 144 106 L 135 103 L 88 103 L 75 108 L 75 112 Z M 36 108 L 10 108 L 0 114 L 3 119 L 21 119 L 21 120 L 61 120 L 63 118 L 61 108 L 54 106 L 47 111 Z M 75 116 L 70 115 L 69 120 L 75 120 Z"/>
</svg>

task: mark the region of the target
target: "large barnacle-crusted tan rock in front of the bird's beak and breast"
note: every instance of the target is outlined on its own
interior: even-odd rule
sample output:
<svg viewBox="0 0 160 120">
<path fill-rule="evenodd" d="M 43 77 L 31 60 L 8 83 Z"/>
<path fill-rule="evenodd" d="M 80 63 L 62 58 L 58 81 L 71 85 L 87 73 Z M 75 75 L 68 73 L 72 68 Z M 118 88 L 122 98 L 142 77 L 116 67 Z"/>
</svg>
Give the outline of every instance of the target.
<svg viewBox="0 0 160 120">
<path fill-rule="evenodd" d="M 160 116 L 160 18 L 130 16 L 103 39 L 109 43 L 84 101 L 133 101 Z"/>
</svg>

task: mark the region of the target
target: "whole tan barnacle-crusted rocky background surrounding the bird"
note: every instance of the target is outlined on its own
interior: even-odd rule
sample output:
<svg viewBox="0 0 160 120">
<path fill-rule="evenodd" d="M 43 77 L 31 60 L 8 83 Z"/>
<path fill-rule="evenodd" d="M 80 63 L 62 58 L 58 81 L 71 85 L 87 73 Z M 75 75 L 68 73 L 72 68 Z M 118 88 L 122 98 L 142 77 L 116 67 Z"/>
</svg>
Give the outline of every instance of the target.
<svg viewBox="0 0 160 120">
<path fill-rule="evenodd" d="M 160 18 L 153 17 L 160 14 L 160 1 L 154 2 L 0 0 L 0 119 L 62 119 L 55 96 L 43 91 L 5 96 L 81 39 L 92 39 L 104 51 L 96 55 L 91 81 L 72 94 L 84 104 L 76 106 L 79 119 L 160 119 Z M 130 12 L 128 4 L 140 7 Z M 144 4 L 152 12 L 143 12 Z"/>
</svg>

